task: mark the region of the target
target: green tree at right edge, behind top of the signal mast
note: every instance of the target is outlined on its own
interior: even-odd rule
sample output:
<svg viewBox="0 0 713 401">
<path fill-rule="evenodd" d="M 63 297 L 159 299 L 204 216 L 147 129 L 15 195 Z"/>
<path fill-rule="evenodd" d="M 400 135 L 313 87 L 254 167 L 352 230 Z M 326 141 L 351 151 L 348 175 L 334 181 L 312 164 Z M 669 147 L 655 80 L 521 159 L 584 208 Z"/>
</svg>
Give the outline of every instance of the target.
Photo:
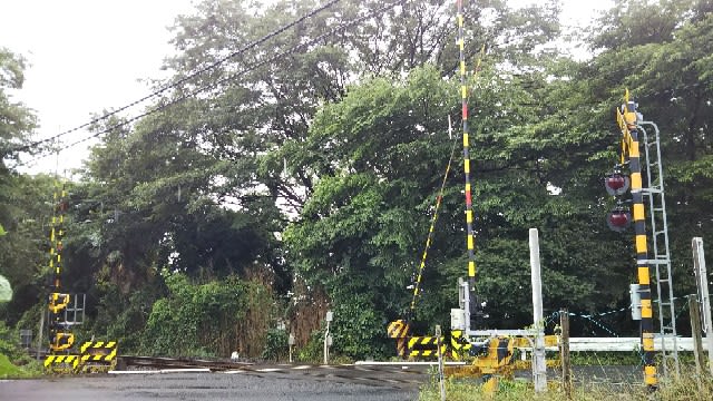
<svg viewBox="0 0 713 401">
<path fill-rule="evenodd" d="M 713 168 L 709 135 L 712 16 L 709 1 L 617 1 L 589 41 L 597 56 L 573 75 L 579 82 L 577 104 L 593 110 L 576 120 L 588 125 L 589 133 L 602 133 L 594 134 L 602 148 L 606 140 L 609 151 L 616 149 L 613 105 L 621 104 L 625 88 L 638 101 L 644 118 L 661 128 L 674 292 L 678 295 L 693 291 L 687 267 L 691 237 L 712 234 L 704 223 L 712 217 L 707 207 Z M 615 163 L 614 157 L 607 158 Z"/>
</svg>

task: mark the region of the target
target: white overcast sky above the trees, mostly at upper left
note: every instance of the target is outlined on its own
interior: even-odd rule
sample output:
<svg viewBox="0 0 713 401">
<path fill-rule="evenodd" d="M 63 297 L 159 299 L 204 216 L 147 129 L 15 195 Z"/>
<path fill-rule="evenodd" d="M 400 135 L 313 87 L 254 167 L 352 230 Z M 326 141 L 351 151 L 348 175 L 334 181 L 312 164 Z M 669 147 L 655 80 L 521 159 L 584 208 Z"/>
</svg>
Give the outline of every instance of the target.
<svg viewBox="0 0 713 401">
<path fill-rule="evenodd" d="M 178 14 L 191 13 L 196 1 L 0 0 L 0 47 L 29 61 L 25 87 L 14 99 L 36 110 L 40 127 L 33 138 L 57 135 L 87 123 L 92 113 L 147 95 L 143 80 L 160 77 L 162 61 L 173 52 L 167 27 Z M 565 21 L 578 25 L 612 0 L 563 2 Z M 62 141 L 86 136 L 79 130 Z M 59 173 L 80 167 L 86 155 L 86 145 L 62 151 Z M 55 172 L 57 165 L 51 156 L 21 170 Z"/>
</svg>

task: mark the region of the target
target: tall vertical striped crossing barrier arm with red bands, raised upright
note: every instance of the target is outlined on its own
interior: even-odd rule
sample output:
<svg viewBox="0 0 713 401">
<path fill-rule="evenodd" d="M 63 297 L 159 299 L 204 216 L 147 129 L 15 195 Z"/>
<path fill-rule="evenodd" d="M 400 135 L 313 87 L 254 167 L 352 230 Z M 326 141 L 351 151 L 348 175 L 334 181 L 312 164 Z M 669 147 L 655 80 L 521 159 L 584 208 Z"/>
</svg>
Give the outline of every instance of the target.
<svg viewBox="0 0 713 401">
<path fill-rule="evenodd" d="M 466 226 L 467 226 L 467 244 L 468 244 L 468 288 L 470 292 L 476 286 L 476 239 L 472 231 L 472 197 L 470 195 L 470 141 L 468 139 L 468 82 L 466 77 L 466 53 L 465 53 L 465 33 L 463 33 L 463 2 L 458 2 L 458 47 L 460 59 L 460 96 L 462 102 L 462 129 L 463 129 L 463 170 L 466 173 Z M 475 306 L 471 303 L 471 311 Z"/>
</svg>

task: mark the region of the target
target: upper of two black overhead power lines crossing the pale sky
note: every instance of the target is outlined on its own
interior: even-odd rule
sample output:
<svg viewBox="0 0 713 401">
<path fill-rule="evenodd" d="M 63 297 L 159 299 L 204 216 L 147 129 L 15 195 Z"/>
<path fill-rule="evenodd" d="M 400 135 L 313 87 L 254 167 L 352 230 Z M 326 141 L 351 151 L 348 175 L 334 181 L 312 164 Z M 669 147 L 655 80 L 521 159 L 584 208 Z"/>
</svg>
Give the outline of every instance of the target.
<svg viewBox="0 0 713 401">
<path fill-rule="evenodd" d="M 131 101 L 130 104 L 128 104 L 126 106 L 123 106 L 123 107 L 119 107 L 118 109 L 113 110 L 110 113 L 107 113 L 107 114 L 102 115 L 101 117 L 94 118 L 94 119 L 91 119 L 91 120 L 89 120 L 89 121 L 87 121 L 87 123 L 85 123 L 85 124 L 82 124 L 80 126 L 77 126 L 75 128 L 68 129 L 66 131 L 61 131 L 61 133 L 59 133 L 57 135 L 53 135 L 51 137 L 48 137 L 48 138 L 45 138 L 45 139 L 40 139 L 40 140 L 31 143 L 31 144 L 18 146 L 18 147 L 16 147 L 13 149 L 9 149 L 7 151 L 7 154 L 12 154 L 12 153 L 16 153 L 16 151 L 30 150 L 32 148 L 38 147 L 39 145 L 47 144 L 47 143 L 52 141 L 55 139 L 58 139 L 58 138 L 60 138 L 60 137 L 62 137 L 65 135 L 78 131 L 79 129 L 82 129 L 82 128 L 87 128 L 87 127 L 91 126 L 92 124 L 97 124 L 99 121 L 102 121 L 102 120 L 105 120 L 105 119 L 107 119 L 107 118 L 109 118 L 111 116 L 117 115 L 118 113 L 121 113 L 121 111 L 124 111 L 124 110 L 126 110 L 126 109 L 128 109 L 130 107 L 134 107 L 134 106 L 136 106 L 138 104 L 141 104 L 141 102 L 144 102 L 144 101 L 146 101 L 148 99 L 152 99 L 152 98 L 154 98 L 154 97 L 167 91 L 168 89 L 172 89 L 172 88 L 175 88 L 175 87 L 177 87 L 177 86 L 179 86 L 182 84 L 185 84 L 188 80 L 199 76 L 201 74 L 204 74 L 204 72 L 206 72 L 208 70 L 212 70 L 212 69 L 221 66 L 225 61 L 227 61 L 227 60 L 229 60 L 229 59 L 232 59 L 232 58 L 234 58 L 236 56 L 241 56 L 242 53 L 244 53 L 244 52 L 246 52 L 246 51 L 248 51 L 248 50 L 251 50 L 251 49 L 253 49 L 253 48 L 266 42 L 267 40 L 281 35 L 282 32 L 286 31 L 287 29 L 293 28 L 294 26 L 300 25 L 300 23 L 304 22 L 305 20 L 316 16 L 318 13 L 331 8 L 332 6 L 336 4 L 340 1 L 342 1 L 342 0 L 330 0 L 329 2 L 324 3 L 323 6 L 314 9 L 314 10 L 312 10 L 310 12 L 307 12 L 306 14 L 297 18 L 296 20 L 280 27 L 279 29 L 276 29 L 276 30 L 263 36 L 262 38 L 260 38 L 260 39 L 257 39 L 257 40 L 255 40 L 255 41 L 242 47 L 241 49 L 238 49 L 238 50 L 236 50 L 236 51 L 234 51 L 234 52 L 232 52 L 232 53 L 218 59 L 217 61 L 214 61 L 214 62 L 212 62 L 211 65 L 208 65 L 206 67 L 203 67 L 203 68 L 201 68 L 201 69 L 198 69 L 198 70 L 196 70 L 196 71 L 194 71 L 194 72 L 192 72 L 192 74 L 189 74 L 189 75 L 187 75 L 187 76 L 185 76 L 185 77 L 183 77 L 183 78 L 180 78 L 180 79 L 178 79 L 178 80 L 176 80 L 176 81 L 174 81 L 172 84 L 168 84 L 168 85 L 164 86 L 163 88 L 160 88 L 158 90 L 155 90 L 155 91 L 144 96 L 143 98 L 140 98 L 138 100 Z"/>
</svg>

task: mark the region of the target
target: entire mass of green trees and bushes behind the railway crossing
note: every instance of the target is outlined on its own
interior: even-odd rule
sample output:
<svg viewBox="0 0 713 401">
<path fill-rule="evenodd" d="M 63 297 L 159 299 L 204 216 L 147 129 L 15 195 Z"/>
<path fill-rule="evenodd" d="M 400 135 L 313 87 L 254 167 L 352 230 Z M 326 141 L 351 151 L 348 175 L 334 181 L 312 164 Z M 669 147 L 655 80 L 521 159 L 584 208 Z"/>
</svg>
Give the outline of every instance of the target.
<svg viewBox="0 0 713 401">
<path fill-rule="evenodd" d="M 555 1 L 465 3 L 477 293 L 488 315 L 479 324 L 531 323 L 530 227 L 547 310 L 628 305 L 631 233 L 607 229 L 602 186 L 626 88 L 662 129 L 674 291 L 693 292 L 691 237 L 713 241 L 713 6 L 616 1 L 582 30 L 594 56 L 579 61 L 557 47 Z M 180 85 L 147 106 L 158 111 L 92 127 L 108 133 L 67 183 L 65 282 L 87 294 L 82 335 L 130 352 L 277 359 L 292 332 L 297 356 L 316 358 L 332 310 L 338 354 L 388 356 L 385 323 L 407 313 L 452 157 L 412 316 L 417 332 L 449 326 L 467 273 L 462 143 L 458 127 L 448 131 L 461 113 L 453 10 L 406 1 L 370 14 L 383 2 L 340 2 L 240 50 L 316 6 L 201 2 L 174 27 L 173 78 L 156 86 Z M 46 294 L 53 183 L 12 169 L 33 125 L 4 95 L 20 87 L 21 67 L 0 51 L 0 274 L 16 288 L 3 317 L 29 327 Z M 626 313 L 602 319 L 637 332 Z M 607 334 L 573 325 L 574 335 Z"/>
</svg>

